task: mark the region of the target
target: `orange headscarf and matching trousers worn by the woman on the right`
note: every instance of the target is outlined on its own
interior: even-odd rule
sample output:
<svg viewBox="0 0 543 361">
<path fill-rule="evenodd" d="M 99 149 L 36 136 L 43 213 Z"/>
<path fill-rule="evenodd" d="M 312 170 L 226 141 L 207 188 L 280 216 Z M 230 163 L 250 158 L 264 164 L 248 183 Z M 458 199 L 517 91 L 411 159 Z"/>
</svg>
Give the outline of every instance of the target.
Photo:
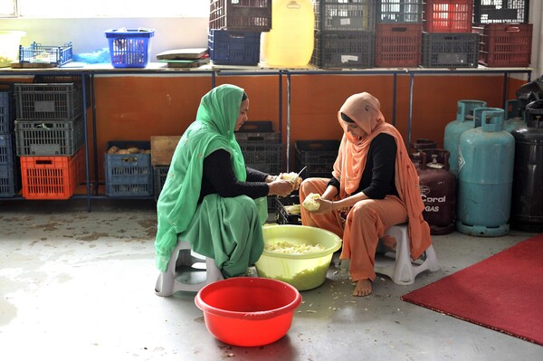
<svg viewBox="0 0 543 361">
<path fill-rule="evenodd" d="M 367 136 L 353 138 L 347 131 L 338 151 L 332 175 L 339 180 L 338 195 L 332 200 L 344 199 L 357 191 L 367 151 L 373 138 L 385 132 L 395 138 L 395 187 L 399 196 L 387 195 L 385 199 L 364 199 L 358 201 L 348 212 L 344 222 L 340 213 L 334 210 L 327 214 L 311 214 L 301 207 L 301 222 L 304 225 L 327 229 L 343 239 L 341 260 L 349 260 L 351 280 L 375 280 L 375 254 L 379 238 L 390 226 L 408 223 L 410 249 L 417 259 L 430 246 L 430 227 L 424 221 L 424 203 L 420 195 L 418 175 L 405 148 L 404 140 L 395 127 L 385 122 L 379 110 L 380 104 L 367 92 L 355 94 L 346 100 L 338 111 L 338 121 L 344 131 L 345 122 L 341 113 L 353 119 Z M 310 193 L 322 195 L 329 179 L 308 178 L 300 185 L 300 203 Z"/>
</svg>

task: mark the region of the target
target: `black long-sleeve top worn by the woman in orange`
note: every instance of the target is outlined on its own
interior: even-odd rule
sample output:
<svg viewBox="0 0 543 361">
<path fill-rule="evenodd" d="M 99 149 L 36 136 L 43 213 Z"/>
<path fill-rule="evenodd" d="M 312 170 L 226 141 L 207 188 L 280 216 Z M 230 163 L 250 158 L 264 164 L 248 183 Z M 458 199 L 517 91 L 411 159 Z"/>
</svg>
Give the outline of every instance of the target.
<svg viewBox="0 0 543 361">
<path fill-rule="evenodd" d="M 364 192 L 368 198 L 383 199 L 386 195 L 398 195 L 395 187 L 395 139 L 381 133 L 371 141 L 367 153 L 366 167 L 355 194 Z M 339 189 L 339 181 L 332 177 L 329 185 Z"/>
</svg>

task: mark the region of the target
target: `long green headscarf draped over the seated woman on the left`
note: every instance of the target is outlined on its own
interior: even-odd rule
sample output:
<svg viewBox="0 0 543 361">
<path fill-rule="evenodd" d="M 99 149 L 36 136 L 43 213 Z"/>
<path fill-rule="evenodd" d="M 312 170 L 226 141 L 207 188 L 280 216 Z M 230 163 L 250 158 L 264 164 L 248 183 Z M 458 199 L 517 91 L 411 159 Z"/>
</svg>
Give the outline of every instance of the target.
<svg viewBox="0 0 543 361">
<path fill-rule="evenodd" d="M 243 89 L 224 84 L 202 97 L 195 121 L 177 144 L 167 180 L 157 200 L 156 263 L 166 271 L 177 245 L 177 234 L 191 223 L 200 196 L 204 159 L 215 150 L 231 155 L 233 173 L 244 182 L 245 162 L 233 131 L 242 104 Z"/>
</svg>

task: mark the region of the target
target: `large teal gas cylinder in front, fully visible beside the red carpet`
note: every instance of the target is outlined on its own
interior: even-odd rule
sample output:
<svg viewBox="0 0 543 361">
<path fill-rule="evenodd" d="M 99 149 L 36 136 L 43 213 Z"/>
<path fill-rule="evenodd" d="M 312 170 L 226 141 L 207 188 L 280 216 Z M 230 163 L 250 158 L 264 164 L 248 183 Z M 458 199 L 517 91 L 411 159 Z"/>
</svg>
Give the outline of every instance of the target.
<svg viewBox="0 0 543 361">
<path fill-rule="evenodd" d="M 456 230 L 474 236 L 509 233 L 515 138 L 503 109 L 480 108 L 460 136 Z"/>
</svg>

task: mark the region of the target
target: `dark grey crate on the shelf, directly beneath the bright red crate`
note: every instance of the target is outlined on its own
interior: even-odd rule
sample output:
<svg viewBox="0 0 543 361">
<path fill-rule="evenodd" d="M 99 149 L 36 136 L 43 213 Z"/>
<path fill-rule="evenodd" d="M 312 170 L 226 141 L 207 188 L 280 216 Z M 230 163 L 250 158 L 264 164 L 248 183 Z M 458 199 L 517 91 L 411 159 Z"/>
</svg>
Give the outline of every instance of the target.
<svg viewBox="0 0 543 361">
<path fill-rule="evenodd" d="M 426 68 L 477 68 L 478 33 L 425 33 L 421 65 Z"/>
</svg>

